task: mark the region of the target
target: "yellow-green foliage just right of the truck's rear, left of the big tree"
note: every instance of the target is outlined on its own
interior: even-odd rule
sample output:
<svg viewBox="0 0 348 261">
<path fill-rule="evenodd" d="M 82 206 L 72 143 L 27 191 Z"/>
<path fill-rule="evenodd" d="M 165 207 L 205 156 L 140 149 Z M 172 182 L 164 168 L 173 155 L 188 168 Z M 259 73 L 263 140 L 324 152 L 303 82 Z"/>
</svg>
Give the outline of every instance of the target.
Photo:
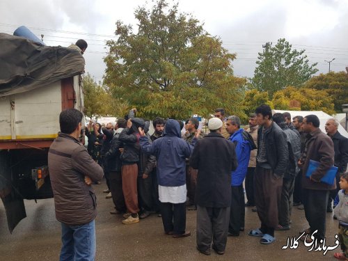
<svg viewBox="0 0 348 261">
<path fill-rule="evenodd" d="M 122 101 L 113 99 L 107 88 L 97 84 L 95 79 L 87 74 L 83 78 L 84 113 L 89 118 L 93 116 L 123 116 L 127 106 Z"/>
</svg>

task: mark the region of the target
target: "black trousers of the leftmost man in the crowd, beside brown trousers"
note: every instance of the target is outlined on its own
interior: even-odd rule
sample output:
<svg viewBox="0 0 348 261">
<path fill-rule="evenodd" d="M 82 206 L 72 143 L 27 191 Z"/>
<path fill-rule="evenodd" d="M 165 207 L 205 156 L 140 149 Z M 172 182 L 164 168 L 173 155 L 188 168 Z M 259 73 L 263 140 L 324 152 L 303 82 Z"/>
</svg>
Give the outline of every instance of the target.
<svg viewBox="0 0 348 261">
<path fill-rule="evenodd" d="M 122 191 L 122 175 L 121 171 L 111 171 L 109 173 L 110 191 L 113 204 L 119 212 L 126 212 L 125 197 Z"/>
</svg>

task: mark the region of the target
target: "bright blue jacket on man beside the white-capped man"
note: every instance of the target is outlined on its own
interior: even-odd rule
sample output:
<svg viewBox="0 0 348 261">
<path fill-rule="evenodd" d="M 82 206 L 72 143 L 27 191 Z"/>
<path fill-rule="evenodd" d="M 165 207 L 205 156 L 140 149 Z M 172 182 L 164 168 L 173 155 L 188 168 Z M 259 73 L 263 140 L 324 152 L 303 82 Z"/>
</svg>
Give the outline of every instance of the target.
<svg viewBox="0 0 348 261">
<path fill-rule="evenodd" d="M 235 144 L 238 161 L 237 169 L 232 171 L 232 186 L 240 186 L 243 183 L 246 171 L 248 171 L 250 152 L 252 150 L 251 144 L 243 138 L 242 132 L 244 132 L 244 129 L 238 129 L 237 132 L 232 134 L 229 138 L 229 140 Z"/>
</svg>

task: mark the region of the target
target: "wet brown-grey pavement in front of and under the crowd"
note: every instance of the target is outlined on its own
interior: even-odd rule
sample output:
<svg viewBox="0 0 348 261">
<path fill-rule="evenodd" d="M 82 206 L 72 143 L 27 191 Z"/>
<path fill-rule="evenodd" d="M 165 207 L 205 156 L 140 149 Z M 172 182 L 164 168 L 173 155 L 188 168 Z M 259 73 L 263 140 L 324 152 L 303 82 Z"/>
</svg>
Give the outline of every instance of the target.
<svg viewBox="0 0 348 261">
<path fill-rule="evenodd" d="M 250 237 L 248 231 L 260 226 L 258 214 L 246 207 L 246 228 L 239 237 L 228 237 L 225 255 L 206 256 L 196 251 L 196 211 L 187 212 L 187 229 L 191 237 L 174 239 L 164 235 L 161 218 L 152 214 L 147 219 L 132 225 L 123 225 L 122 216 L 111 215 L 111 199 L 106 199 L 102 190 L 106 185 L 95 185 L 98 198 L 96 223 L 96 260 L 335 260 L 333 251 L 310 251 L 299 242 L 296 249 L 282 249 L 287 237 L 298 237 L 299 231 L 307 228 L 304 211 L 293 209 L 292 228 L 276 232 L 276 242 L 270 245 L 259 243 L 259 237 Z M 61 226 L 55 219 L 54 200 L 25 200 L 26 219 L 13 231 L 8 232 L 6 214 L 0 203 L 0 260 L 58 260 L 61 249 Z M 326 246 L 335 245 L 338 221 L 328 213 L 326 219 Z"/>
</svg>

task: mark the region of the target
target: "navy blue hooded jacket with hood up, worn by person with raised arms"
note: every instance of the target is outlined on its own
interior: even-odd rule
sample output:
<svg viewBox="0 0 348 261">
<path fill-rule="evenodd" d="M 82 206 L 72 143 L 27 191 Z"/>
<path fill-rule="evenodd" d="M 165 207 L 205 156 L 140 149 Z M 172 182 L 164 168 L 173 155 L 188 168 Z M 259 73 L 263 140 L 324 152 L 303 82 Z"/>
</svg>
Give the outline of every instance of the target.
<svg viewBox="0 0 348 261">
<path fill-rule="evenodd" d="M 180 187 L 186 184 L 186 158 L 189 158 L 197 139 L 192 145 L 181 139 L 177 120 L 169 119 L 164 136 L 150 144 L 148 137 L 140 139 L 143 152 L 156 156 L 158 184 L 164 187 Z"/>
</svg>

